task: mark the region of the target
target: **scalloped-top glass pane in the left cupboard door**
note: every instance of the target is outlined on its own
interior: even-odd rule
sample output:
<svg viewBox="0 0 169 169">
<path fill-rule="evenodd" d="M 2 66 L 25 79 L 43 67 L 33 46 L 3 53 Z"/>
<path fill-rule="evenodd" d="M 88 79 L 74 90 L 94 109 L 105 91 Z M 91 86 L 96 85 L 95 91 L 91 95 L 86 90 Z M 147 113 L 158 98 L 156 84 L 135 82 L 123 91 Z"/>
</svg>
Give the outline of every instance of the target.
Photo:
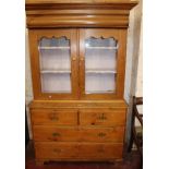
<svg viewBox="0 0 169 169">
<path fill-rule="evenodd" d="M 70 40 L 44 37 L 38 49 L 43 93 L 71 93 Z"/>
</svg>

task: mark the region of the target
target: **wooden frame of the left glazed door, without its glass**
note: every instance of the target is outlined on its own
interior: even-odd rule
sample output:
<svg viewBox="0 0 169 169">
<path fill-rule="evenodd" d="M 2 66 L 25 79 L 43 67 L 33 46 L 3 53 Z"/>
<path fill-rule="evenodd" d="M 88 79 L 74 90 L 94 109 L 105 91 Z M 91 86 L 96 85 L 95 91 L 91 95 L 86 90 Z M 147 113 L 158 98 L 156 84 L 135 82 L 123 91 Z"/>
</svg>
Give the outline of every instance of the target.
<svg viewBox="0 0 169 169">
<path fill-rule="evenodd" d="M 70 39 L 71 47 L 71 94 L 52 94 L 52 93 L 41 93 L 41 82 L 40 82 L 40 68 L 39 68 L 39 51 L 38 51 L 38 40 L 41 37 L 67 37 Z M 29 29 L 29 51 L 31 51 L 31 67 L 32 67 L 32 80 L 33 80 L 33 90 L 34 99 L 76 99 L 79 94 L 79 76 L 77 76 L 77 41 L 76 41 L 76 29 L 75 28 L 63 28 L 63 29 Z"/>
</svg>

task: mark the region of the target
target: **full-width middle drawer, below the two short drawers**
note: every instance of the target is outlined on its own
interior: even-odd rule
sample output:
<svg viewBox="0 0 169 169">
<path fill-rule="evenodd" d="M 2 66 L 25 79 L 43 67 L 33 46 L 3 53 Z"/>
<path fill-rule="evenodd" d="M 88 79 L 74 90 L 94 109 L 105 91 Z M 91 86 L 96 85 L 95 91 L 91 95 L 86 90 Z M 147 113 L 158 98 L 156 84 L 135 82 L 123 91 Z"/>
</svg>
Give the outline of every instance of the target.
<svg viewBox="0 0 169 169">
<path fill-rule="evenodd" d="M 34 140 L 44 142 L 123 142 L 124 126 L 116 128 L 61 128 L 33 126 Z"/>
</svg>

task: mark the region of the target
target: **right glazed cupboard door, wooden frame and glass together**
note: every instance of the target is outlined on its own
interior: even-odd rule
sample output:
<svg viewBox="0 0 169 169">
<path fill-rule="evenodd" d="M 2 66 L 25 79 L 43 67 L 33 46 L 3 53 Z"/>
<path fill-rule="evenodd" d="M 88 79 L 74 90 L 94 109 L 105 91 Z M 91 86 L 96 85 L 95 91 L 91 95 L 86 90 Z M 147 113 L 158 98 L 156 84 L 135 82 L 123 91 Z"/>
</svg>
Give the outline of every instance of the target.
<svg viewBox="0 0 169 169">
<path fill-rule="evenodd" d="M 124 76 L 121 32 L 82 29 L 80 39 L 81 97 L 120 98 Z"/>
</svg>

